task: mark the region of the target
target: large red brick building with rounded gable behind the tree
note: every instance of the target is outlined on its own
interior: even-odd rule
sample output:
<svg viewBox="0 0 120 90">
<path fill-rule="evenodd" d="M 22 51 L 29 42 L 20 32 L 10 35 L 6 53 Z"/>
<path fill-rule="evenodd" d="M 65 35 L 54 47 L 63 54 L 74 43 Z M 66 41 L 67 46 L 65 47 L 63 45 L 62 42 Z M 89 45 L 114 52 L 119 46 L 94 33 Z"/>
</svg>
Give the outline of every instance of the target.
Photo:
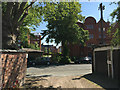
<svg viewBox="0 0 120 90">
<path fill-rule="evenodd" d="M 92 46 L 98 46 L 101 42 L 101 20 L 96 22 L 95 18 L 87 17 L 84 23 L 77 22 L 77 24 L 84 30 L 89 31 L 89 40 L 86 41 L 86 46 L 80 44 L 69 45 L 70 56 L 92 56 Z M 107 34 L 109 28 L 109 22 L 103 20 L 103 38 L 104 44 L 110 44 L 111 38 Z"/>
</svg>

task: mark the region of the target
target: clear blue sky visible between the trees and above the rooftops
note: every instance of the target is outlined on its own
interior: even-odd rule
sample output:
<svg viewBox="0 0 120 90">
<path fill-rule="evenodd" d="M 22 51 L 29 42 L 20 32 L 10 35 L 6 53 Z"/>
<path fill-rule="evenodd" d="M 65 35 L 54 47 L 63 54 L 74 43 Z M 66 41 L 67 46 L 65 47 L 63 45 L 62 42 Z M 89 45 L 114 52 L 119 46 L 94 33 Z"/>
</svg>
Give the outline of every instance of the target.
<svg viewBox="0 0 120 90">
<path fill-rule="evenodd" d="M 83 16 L 85 16 L 86 18 L 92 16 L 96 19 L 97 22 L 100 20 L 100 10 L 98 10 L 98 7 L 101 2 L 79 2 L 79 3 L 81 4 L 81 10 L 82 10 L 81 14 Z M 103 19 L 105 21 L 109 20 L 110 22 L 112 22 L 110 13 L 117 8 L 117 5 L 115 4 L 110 5 L 110 2 L 102 2 L 102 3 L 105 6 L 105 10 L 103 11 Z M 40 26 L 34 32 L 41 33 L 41 30 L 47 29 L 46 25 L 47 22 L 41 22 Z M 43 43 L 44 45 L 48 44 L 45 42 L 45 38 L 41 41 L 41 43 Z M 55 46 L 55 43 L 49 43 L 49 45 Z M 60 45 L 61 44 L 59 44 L 57 47 L 59 47 Z"/>
</svg>

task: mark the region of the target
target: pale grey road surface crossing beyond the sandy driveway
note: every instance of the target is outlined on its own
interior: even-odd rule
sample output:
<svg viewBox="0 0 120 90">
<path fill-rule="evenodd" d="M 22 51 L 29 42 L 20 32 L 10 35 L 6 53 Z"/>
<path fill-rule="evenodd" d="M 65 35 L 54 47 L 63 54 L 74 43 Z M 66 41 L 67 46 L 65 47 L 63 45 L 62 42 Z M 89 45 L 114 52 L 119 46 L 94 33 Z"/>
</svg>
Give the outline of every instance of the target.
<svg viewBox="0 0 120 90">
<path fill-rule="evenodd" d="M 91 64 L 70 64 L 27 68 L 27 76 L 80 76 L 92 72 Z"/>
</svg>

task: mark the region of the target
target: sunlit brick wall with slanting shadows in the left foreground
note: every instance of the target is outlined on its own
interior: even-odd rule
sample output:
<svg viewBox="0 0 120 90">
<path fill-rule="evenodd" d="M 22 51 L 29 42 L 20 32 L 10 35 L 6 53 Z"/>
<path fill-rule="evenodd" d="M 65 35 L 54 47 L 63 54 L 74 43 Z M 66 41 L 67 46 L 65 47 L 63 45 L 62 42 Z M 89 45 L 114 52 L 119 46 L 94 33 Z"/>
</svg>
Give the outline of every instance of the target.
<svg viewBox="0 0 120 90">
<path fill-rule="evenodd" d="M 2 87 L 12 88 L 24 83 L 27 68 L 25 52 L 2 52 Z M 18 85 L 18 86 L 15 86 Z"/>
</svg>

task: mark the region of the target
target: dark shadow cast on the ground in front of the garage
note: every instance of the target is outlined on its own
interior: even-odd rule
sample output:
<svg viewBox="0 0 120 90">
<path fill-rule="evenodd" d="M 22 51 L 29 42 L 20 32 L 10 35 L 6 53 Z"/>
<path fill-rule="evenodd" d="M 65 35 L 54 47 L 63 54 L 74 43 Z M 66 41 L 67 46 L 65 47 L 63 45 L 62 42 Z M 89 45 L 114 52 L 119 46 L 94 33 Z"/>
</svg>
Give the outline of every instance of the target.
<svg viewBox="0 0 120 90">
<path fill-rule="evenodd" d="M 97 85 L 100 85 L 104 89 L 118 88 L 118 83 L 115 80 L 112 80 L 112 79 L 102 76 L 102 75 L 86 74 L 82 77 L 86 78 L 87 80 L 89 80 L 91 82 L 96 83 Z"/>
</svg>

